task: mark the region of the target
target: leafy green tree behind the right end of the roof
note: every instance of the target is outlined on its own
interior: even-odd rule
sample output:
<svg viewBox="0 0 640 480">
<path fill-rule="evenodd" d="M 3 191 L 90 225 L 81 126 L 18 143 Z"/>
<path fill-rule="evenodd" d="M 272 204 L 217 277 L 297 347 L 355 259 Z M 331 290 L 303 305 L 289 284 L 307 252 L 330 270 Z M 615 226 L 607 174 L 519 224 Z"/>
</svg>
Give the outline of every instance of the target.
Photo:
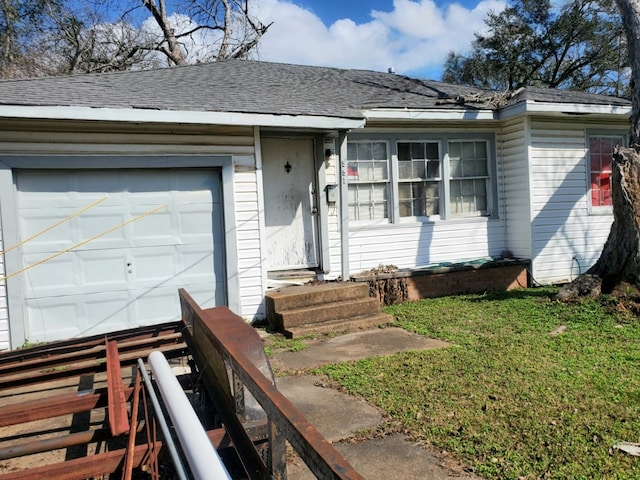
<svg viewBox="0 0 640 480">
<path fill-rule="evenodd" d="M 534 85 L 622 93 L 626 42 L 611 0 L 515 0 L 475 34 L 469 55 L 449 53 L 443 80 L 493 90 Z"/>
</svg>

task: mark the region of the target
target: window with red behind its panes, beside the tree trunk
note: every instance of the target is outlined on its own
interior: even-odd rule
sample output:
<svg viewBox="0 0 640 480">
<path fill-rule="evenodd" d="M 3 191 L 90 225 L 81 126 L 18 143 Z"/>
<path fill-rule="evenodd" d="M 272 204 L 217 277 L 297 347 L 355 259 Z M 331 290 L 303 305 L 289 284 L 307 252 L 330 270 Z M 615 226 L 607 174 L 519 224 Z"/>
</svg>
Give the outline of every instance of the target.
<svg viewBox="0 0 640 480">
<path fill-rule="evenodd" d="M 591 206 L 611 206 L 611 164 L 613 149 L 623 145 L 624 138 L 618 136 L 589 137 L 589 164 L 591 182 Z"/>
</svg>

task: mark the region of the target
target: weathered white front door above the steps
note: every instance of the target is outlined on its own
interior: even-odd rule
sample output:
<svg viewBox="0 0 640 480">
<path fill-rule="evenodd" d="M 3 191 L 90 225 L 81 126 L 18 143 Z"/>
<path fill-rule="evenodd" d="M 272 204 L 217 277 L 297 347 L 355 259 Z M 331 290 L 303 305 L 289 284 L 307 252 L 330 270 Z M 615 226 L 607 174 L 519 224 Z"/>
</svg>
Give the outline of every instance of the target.
<svg viewBox="0 0 640 480">
<path fill-rule="evenodd" d="M 318 266 L 314 143 L 263 138 L 267 269 Z"/>
</svg>

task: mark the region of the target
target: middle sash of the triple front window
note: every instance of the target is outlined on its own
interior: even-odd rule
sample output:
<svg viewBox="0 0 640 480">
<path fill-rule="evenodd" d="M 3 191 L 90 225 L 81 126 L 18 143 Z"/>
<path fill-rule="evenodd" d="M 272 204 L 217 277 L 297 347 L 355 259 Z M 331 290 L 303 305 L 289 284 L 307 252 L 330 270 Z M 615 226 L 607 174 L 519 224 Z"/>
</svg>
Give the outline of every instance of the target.
<svg viewBox="0 0 640 480">
<path fill-rule="evenodd" d="M 398 202 L 401 217 L 440 213 L 440 144 L 398 142 Z"/>
</svg>

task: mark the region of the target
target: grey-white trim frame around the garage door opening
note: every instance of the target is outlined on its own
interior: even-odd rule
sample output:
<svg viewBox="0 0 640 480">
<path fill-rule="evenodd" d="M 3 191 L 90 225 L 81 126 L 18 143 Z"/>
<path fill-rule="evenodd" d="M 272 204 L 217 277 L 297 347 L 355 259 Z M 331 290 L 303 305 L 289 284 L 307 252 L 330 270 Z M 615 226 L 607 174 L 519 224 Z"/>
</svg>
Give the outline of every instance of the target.
<svg viewBox="0 0 640 480">
<path fill-rule="evenodd" d="M 16 171 L 19 170 L 106 170 L 106 169 L 179 169 L 219 168 L 222 177 L 222 210 L 225 230 L 225 273 L 227 306 L 241 311 L 235 199 L 233 188 L 233 158 L 225 155 L 2 155 L 0 156 L 0 234 L 3 249 L 20 242 L 17 216 Z M 22 265 L 19 249 L 4 255 L 5 275 L 17 272 Z M 9 342 L 11 348 L 23 345 L 26 340 L 27 318 L 24 308 L 24 282 L 20 275 L 6 280 L 9 317 Z"/>
</svg>

